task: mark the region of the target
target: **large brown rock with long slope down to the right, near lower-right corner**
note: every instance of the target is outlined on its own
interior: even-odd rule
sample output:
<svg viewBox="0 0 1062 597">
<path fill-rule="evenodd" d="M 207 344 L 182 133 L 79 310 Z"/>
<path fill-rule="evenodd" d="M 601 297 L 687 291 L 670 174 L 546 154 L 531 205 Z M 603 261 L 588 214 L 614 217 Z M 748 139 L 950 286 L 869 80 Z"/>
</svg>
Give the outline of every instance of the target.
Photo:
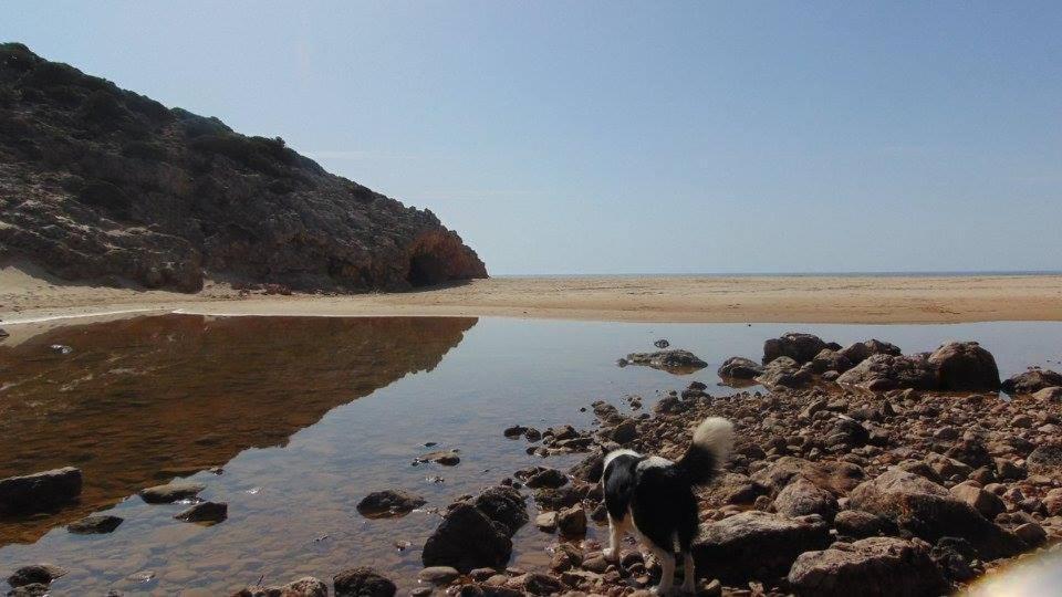
<svg viewBox="0 0 1062 597">
<path fill-rule="evenodd" d="M 948 490 L 897 468 L 862 483 L 848 498 L 852 509 L 889 519 L 900 530 L 928 542 L 962 537 L 985 559 L 1009 557 L 1023 548 L 1018 537 L 985 520 Z"/>
</svg>

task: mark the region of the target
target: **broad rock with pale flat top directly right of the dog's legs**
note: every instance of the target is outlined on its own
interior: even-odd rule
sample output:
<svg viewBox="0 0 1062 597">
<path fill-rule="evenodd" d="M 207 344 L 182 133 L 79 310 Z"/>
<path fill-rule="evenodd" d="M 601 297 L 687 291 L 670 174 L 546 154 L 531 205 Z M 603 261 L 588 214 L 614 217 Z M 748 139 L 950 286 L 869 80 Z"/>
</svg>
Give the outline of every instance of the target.
<svg viewBox="0 0 1062 597">
<path fill-rule="evenodd" d="M 748 511 L 702 526 L 693 546 L 697 574 L 723 583 L 783 576 L 796 556 L 830 544 L 826 523 L 806 519 Z"/>
</svg>

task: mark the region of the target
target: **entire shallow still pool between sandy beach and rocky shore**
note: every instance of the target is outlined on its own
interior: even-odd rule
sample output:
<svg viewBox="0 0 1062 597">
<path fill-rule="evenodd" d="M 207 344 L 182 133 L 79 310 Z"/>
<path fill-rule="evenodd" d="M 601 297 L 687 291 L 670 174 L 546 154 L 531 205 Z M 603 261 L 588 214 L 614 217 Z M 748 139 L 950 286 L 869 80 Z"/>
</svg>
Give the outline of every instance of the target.
<svg viewBox="0 0 1062 597">
<path fill-rule="evenodd" d="M 82 503 L 49 516 L 0 521 L 0 573 L 35 562 L 71 570 L 54 595 L 228 594 L 264 577 L 330 578 L 372 565 L 410 588 L 419 546 L 445 507 L 514 470 L 541 463 L 513 423 L 589 427 L 580 407 L 709 385 L 732 355 L 757 358 L 791 331 L 847 344 L 877 337 L 905 352 L 978 339 L 1006 377 L 1058 368 L 1060 323 L 926 326 L 613 324 L 502 318 L 323 318 L 191 315 L 60 327 L 0 344 L 0 476 L 73 464 Z M 653 341 L 691 349 L 709 367 L 671 376 L 615 359 Z M 53 344 L 73 348 L 67 355 Z M 720 388 L 717 392 L 728 390 Z M 418 454 L 461 450 L 454 468 L 413 467 Z M 554 458 L 565 468 L 577 455 Z M 223 473 L 207 471 L 222 467 Z M 212 527 L 180 523 L 185 506 L 148 505 L 144 486 L 190 475 L 202 498 L 229 503 Z M 445 481 L 436 482 L 435 476 Z M 371 491 L 403 488 L 426 511 L 367 520 Z M 529 501 L 530 503 L 530 501 Z M 533 506 L 532 506 L 533 507 Z M 91 512 L 125 523 L 108 535 L 63 525 Z M 592 533 L 593 534 L 593 533 Z M 405 549 L 396 543 L 408 542 Z M 532 525 L 514 538 L 516 565 L 544 564 L 551 537 Z M 152 573 L 152 574 L 145 574 Z M 146 579 L 145 578 L 148 578 Z"/>
</svg>

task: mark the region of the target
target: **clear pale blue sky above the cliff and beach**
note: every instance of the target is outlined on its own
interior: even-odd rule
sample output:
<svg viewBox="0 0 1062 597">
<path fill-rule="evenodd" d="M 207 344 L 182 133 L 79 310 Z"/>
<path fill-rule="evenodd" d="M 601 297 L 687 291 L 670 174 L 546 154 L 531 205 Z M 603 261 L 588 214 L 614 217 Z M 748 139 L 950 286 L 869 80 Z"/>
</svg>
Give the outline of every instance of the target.
<svg viewBox="0 0 1062 597">
<path fill-rule="evenodd" d="M 1060 2 L 4 2 L 492 274 L 1062 269 Z"/>
</svg>

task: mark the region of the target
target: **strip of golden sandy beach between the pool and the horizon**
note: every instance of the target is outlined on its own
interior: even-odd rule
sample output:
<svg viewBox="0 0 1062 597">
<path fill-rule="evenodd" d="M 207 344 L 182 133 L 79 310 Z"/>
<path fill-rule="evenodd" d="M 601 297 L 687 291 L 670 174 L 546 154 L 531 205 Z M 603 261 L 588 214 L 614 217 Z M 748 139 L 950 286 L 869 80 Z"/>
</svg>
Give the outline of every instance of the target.
<svg viewBox="0 0 1062 597">
<path fill-rule="evenodd" d="M 1062 321 L 1062 276 L 502 276 L 399 294 L 241 297 L 223 284 L 180 294 L 70 284 L 24 265 L 0 269 L 7 324 L 168 311 L 705 323 Z"/>
</svg>

